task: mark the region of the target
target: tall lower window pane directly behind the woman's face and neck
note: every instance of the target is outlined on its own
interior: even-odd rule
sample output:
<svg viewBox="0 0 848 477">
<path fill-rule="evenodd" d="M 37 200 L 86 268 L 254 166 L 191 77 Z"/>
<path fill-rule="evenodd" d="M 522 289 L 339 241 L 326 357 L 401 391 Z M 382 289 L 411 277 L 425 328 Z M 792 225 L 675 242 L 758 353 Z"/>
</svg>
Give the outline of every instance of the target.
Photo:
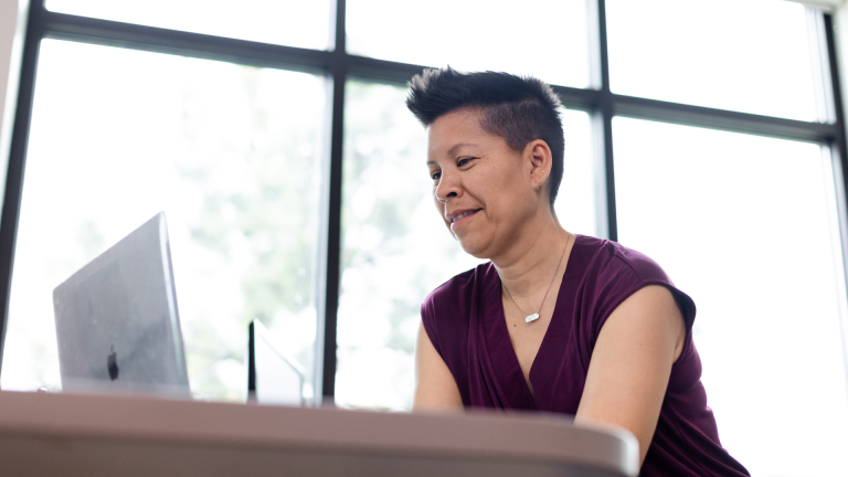
<svg viewBox="0 0 848 477">
<path fill-rule="evenodd" d="M 427 178 L 424 128 L 404 88 L 351 82 L 344 118 L 341 296 L 336 402 L 405 410 L 412 403 L 420 307 L 437 286 L 479 264 L 445 229 Z M 558 211 L 592 233 L 589 119 L 566 112 L 566 166 Z"/>
</svg>

